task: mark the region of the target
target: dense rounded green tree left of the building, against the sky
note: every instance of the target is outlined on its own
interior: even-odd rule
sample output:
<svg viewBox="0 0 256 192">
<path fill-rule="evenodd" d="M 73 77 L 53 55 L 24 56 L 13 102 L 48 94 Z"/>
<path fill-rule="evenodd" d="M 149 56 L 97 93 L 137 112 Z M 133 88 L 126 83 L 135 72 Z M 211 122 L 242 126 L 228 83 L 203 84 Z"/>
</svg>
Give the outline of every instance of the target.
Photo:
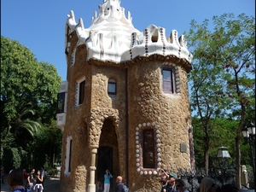
<svg viewBox="0 0 256 192">
<path fill-rule="evenodd" d="M 60 83 L 54 66 L 1 36 L 1 159 L 5 148 L 26 150 L 43 125 L 50 124 Z"/>
</svg>

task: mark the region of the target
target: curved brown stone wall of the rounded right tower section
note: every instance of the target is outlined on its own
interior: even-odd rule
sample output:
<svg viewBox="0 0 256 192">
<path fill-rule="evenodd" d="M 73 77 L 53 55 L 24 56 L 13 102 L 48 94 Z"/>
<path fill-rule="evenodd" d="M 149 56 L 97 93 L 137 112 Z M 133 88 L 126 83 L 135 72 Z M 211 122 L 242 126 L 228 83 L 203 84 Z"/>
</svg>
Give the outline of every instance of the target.
<svg viewBox="0 0 256 192">
<path fill-rule="evenodd" d="M 153 123 L 160 131 L 161 168 L 177 172 L 189 168 L 189 94 L 187 73 L 177 65 L 180 93 L 164 94 L 161 90 L 160 67 L 165 61 L 142 61 L 129 68 L 129 185 L 131 191 L 159 191 L 159 177 L 137 172 L 136 127 Z M 147 126 L 147 125 L 146 125 Z M 180 152 L 185 143 L 187 152 Z M 150 169 L 144 171 L 149 172 Z M 154 170 L 151 170 L 152 172 Z"/>
</svg>

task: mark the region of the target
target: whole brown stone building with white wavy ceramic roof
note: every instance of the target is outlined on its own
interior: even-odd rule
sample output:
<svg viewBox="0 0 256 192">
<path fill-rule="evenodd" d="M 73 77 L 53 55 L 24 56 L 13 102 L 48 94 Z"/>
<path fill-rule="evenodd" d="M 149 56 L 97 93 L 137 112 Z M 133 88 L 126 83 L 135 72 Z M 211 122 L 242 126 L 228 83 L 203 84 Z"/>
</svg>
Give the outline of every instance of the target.
<svg viewBox="0 0 256 192">
<path fill-rule="evenodd" d="M 159 191 L 160 168 L 193 169 L 183 36 L 150 25 L 139 32 L 119 0 L 103 0 L 84 28 L 67 15 L 67 81 L 58 95 L 63 132 L 61 192 L 96 191 L 105 170 L 131 192 Z"/>
</svg>

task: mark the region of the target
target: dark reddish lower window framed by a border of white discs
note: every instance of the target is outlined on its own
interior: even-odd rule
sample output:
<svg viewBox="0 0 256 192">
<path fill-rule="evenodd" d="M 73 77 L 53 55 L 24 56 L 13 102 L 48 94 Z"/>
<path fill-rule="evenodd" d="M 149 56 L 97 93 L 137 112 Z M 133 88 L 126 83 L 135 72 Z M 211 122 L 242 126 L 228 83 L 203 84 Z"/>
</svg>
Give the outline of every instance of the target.
<svg viewBox="0 0 256 192">
<path fill-rule="evenodd" d="M 154 130 L 143 130 L 143 167 L 154 168 Z"/>
</svg>

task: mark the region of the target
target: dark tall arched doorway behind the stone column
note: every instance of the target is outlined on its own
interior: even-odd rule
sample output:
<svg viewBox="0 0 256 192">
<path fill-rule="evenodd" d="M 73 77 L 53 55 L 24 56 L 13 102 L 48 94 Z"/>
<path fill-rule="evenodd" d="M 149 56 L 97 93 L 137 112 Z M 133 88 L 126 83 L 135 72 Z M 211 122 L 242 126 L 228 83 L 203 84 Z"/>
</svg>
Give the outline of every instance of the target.
<svg viewBox="0 0 256 192">
<path fill-rule="evenodd" d="M 113 120 L 106 119 L 102 125 L 100 145 L 97 152 L 96 179 L 104 183 L 104 174 L 108 169 L 113 178 L 111 179 L 110 192 L 114 189 L 115 177 L 119 174 L 118 142 Z"/>
</svg>

